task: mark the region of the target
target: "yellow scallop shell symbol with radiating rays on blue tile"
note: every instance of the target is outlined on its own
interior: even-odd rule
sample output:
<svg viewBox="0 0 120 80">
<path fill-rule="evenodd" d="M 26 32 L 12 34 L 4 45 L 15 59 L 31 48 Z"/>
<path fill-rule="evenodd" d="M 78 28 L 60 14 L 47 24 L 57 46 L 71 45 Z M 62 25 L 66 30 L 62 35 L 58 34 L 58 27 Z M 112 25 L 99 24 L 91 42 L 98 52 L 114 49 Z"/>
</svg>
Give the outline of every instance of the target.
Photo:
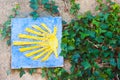
<svg viewBox="0 0 120 80">
<path fill-rule="evenodd" d="M 32 39 L 33 41 L 14 41 L 13 45 L 15 46 L 25 46 L 31 45 L 29 47 L 22 47 L 19 49 L 20 52 L 30 51 L 25 54 L 26 57 L 33 56 L 33 60 L 38 60 L 39 58 L 43 57 L 41 61 L 46 61 L 50 57 L 52 53 L 58 57 L 57 49 L 58 49 L 58 39 L 56 37 L 57 27 L 54 27 L 54 31 L 51 30 L 46 26 L 46 24 L 41 23 L 42 27 L 37 25 L 33 25 L 32 28 L 26 28 L 25 31 L 33 35 L 29 34 L 19 34 L 19 38 L 24 39 Z M 34 46 L 33 46 L 34 45 Z M 37 50 L 36 50 L 37 49 Z"/>
</svg>

